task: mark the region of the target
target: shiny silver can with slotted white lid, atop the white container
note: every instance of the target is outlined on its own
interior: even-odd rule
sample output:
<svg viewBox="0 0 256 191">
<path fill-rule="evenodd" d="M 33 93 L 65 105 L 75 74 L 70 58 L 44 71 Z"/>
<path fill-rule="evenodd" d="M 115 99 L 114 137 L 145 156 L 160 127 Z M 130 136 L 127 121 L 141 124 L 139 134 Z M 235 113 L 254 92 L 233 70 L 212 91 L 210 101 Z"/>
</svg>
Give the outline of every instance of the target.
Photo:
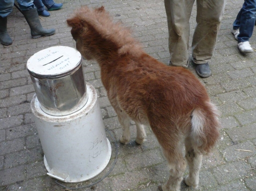
<svg viewBox="0 0 256 191">
<path fill-rule="evenodd" d="M 52 46 L 28 59 L 27 70 L 43 112 L 69 115 L 86 104 L 81 60 L 80 52 L 68 46 Z"/>
</svg>

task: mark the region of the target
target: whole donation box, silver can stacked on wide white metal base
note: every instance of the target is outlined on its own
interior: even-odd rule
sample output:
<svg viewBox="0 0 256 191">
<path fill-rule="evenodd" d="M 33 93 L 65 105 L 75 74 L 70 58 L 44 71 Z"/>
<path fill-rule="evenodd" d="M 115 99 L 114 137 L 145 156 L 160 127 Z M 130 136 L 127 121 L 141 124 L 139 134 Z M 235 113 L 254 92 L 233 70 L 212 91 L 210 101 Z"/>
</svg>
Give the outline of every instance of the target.
<svg viewBox="0 0 256 191">
<path fill-rule="evenodd" d="M 97 176 L 110 160 L 111 146 L 96 90 L 84 79 L 81 54 L 67 46 L 49 47 L 32 55 L 27 69 L 47 174 L 64 182 Z"/>
</svg>

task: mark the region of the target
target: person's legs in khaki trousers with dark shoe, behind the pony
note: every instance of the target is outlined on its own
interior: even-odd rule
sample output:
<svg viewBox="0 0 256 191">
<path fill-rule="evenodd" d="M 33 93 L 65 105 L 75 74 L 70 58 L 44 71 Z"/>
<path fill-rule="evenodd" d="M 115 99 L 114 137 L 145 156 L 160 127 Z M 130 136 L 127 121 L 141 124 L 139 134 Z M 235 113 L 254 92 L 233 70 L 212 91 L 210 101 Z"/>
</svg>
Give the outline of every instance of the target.
<svg viewBox="0 0 256 191">
<path fill-rule="evenodd" d="M 170 64 L 187 67 L 190 17 L 194 0 L 164 0 L 169 30 Z M 212 58 L 225 0 L 197 0 L 197 26 L 192 40 L 193 62 L 201 77 L 210 76 Z"/>
</svg>

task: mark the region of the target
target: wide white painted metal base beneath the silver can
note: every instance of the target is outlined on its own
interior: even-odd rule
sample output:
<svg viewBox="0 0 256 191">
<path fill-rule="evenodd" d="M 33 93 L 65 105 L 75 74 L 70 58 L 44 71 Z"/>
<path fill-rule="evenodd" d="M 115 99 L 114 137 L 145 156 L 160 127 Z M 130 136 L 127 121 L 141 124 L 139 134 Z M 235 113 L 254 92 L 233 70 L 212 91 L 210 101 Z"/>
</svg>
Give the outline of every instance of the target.
<svg viewBox="0 0 256 191">
<path fill-rule="evenodd" d="M 88 83 L 87 93 L 86 105 L 66 116 L 44 113 L 36 95 L 31 101 L 48 175 L 64 182 L 91 179 L 102 172 L 110 160 L 111 146 L 97 93 Z"/>
</svg>

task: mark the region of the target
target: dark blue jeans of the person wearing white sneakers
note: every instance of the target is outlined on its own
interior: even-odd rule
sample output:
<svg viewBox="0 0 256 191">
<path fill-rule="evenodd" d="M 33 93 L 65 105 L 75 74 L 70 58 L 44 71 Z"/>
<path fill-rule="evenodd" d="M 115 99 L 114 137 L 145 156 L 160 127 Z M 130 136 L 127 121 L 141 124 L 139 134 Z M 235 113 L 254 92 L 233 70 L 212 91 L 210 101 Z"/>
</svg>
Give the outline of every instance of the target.
<svg viewBox="0 0 256 191">
<path fill-rule="evenodd" d="M 256 0 L 245 0 L 242 9 L 237 14 L 233 29 L 239 28 L 238 43 L 249 41 L 255 25 Z"/>
</svg>

